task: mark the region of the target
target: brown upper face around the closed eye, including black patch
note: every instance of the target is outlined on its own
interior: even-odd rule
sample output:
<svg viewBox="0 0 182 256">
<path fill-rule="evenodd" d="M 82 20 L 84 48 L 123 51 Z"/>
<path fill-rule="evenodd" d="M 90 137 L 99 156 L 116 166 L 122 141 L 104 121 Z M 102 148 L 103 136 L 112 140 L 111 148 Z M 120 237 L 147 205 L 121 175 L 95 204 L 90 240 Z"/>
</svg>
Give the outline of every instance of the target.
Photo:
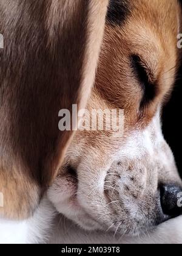
<svg viewBox="0 0 182 256">
<path fill-rule="evenodd" d="M 178 7 L 177 0 L 109 2 L 95 94 L 112 107 L 123 108 L 126 123 L 132 127 L 141 123 L 146 126 L 174 85 L 179 55 Z M 151 84 L 143 77 L 136 79 L 133 55 L 142 60 L 147 76 L 153 77 Z M 153 88 L 151 100 L 147 98 L 148 85 Z"/>
</svg>

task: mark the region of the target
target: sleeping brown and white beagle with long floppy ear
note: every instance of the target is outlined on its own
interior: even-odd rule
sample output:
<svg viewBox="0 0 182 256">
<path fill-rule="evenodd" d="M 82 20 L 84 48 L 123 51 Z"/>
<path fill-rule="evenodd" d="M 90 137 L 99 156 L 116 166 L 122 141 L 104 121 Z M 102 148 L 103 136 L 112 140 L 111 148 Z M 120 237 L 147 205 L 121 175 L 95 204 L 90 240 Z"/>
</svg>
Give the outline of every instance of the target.
<svg viewBox="0 0 182 256">
<path fill-rule="evenodd" d="M 0 243 L 45 241 L 52 204 L 81 229 L 160 236 L 181 214 L 160 121 L 180 62 L 179 1 L 1 0 L 0 16 Z M 123 109 L 123 136 L 60 132 L 72 104 Z"/>
</svg>

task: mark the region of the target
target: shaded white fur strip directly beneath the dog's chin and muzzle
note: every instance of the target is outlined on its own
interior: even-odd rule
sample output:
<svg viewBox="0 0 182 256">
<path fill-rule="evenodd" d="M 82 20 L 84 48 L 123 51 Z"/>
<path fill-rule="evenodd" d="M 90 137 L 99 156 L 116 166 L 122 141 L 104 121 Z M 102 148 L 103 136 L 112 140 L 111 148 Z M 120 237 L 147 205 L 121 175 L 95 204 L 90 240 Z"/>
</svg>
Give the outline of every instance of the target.
<svg viewBox="0 0 182 256">
<path fill-rule="evenodd" d="M 161 224 L 152 233 L 136 238 L 116 238 L 114 233 L 86 232 L 64 216 L 55 220 L 50 244 L 181 244 L 182 216 Z"/>
</svg>

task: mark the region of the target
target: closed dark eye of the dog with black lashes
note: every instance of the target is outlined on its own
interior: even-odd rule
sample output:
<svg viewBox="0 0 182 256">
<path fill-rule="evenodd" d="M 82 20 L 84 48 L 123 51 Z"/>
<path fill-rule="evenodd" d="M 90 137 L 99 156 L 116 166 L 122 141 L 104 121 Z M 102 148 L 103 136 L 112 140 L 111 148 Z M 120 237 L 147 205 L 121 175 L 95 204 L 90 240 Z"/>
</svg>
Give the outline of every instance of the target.
<svg viewBox="0 0 182 256">
<path fill-rule="evenodd" d="M 155 82 L 153 81 L 152 73 L 146 68 L 146 65 L 138 55 L 131 55 L 130 60 L 135 77 L 140 82 L 143 90 L 143 98 L 141 100 L 141 107 L 143 107 L 155 97 Z"/>
</svg>

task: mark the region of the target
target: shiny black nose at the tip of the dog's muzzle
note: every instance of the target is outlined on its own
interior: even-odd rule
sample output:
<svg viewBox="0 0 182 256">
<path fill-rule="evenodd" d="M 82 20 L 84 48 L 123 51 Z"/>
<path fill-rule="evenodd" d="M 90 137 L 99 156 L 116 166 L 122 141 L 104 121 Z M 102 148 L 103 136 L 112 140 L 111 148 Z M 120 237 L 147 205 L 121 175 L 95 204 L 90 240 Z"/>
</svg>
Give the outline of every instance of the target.
<svg viewBox="0 0 182 256">
<path fill-rule="evenodd" d="M 182 188 L 175 185 L 161 186 L 161 206 L 163 213 L 172 218 L 182 214 Z"/>
</svg>

